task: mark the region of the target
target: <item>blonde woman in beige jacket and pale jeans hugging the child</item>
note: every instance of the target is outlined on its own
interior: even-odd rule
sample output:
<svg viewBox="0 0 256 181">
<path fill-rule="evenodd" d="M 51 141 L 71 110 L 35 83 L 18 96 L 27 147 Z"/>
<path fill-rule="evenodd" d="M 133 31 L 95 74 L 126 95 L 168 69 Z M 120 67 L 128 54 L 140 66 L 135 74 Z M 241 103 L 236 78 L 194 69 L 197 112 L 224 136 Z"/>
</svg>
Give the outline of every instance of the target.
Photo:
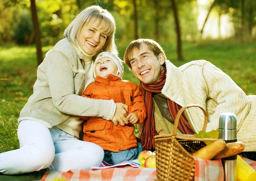
<svg viewBox="0 0 256 181">
<path fill-rule="evenodd" d="M 93 56 L 103 51 L 117 53 L 115 30 L 113 16 L 99 6 L 84 9 L 70 23 L 64 39 L 38 66 L 34 92 L 18 119 L 20 149 L 0 154 L 0 173 L 99 166 L 103 149 L 78 139 L 83 123 L 79 116 L 98 116 L 124 125 L 127 106 L 79 95 L 94 81 Z"/>
</svg>

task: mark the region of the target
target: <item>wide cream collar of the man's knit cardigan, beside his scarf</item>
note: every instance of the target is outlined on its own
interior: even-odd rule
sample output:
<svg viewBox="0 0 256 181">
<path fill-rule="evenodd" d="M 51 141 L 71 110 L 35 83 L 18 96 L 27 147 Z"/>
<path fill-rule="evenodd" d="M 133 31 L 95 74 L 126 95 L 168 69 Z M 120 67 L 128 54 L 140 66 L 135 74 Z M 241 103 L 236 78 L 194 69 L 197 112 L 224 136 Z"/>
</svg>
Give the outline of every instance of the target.
<svg viewBox="0 0 256 181">
<path fill-rule="evenodd" d="M 162 94 L 180 106 L 185 106 L 182 95 L 182 72 L 169 60 L 166 63 L 166 83 L 163 86 Z"/>
</svg>

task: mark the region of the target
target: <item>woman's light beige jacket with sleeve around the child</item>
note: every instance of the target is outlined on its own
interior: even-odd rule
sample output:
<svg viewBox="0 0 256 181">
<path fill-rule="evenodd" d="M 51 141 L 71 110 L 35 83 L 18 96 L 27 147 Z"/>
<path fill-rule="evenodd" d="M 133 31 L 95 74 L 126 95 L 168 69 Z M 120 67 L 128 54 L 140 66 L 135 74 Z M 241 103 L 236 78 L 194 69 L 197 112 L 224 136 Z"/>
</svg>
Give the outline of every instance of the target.
<svg viewBox="0 0 256 181">
<path fill-rule="evenodd" d="M 38 66 L 33 94 L 20 112 L 18 122 L 38 121 L 48 128 L 79 137 L 83 120 L 79 116 L 113 117 L 113 100 L 93 100 L 80 95 L 94 82 L 92 56 L 80 55 L 67 38 L 60 40 Z M 65 122 L 66 121 L 66 122 Z M 65 123 L 64 123 L 65 122 Z"/>
</svg>

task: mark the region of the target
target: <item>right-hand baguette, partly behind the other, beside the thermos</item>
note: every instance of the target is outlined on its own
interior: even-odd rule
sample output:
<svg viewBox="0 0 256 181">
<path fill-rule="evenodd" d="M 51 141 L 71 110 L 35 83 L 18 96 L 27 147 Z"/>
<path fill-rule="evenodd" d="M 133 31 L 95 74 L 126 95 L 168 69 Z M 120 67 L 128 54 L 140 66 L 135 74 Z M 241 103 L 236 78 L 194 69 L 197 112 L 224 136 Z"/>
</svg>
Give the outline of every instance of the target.
<svg viewBox="0 0 256 181">
<path fill-rule="evenodd" d="M 227 143 L 225 149 L 223 149 L 218 155 L 213 159 L 218 160 L 221 158 L 237 155 L 244 150 L 244 144 L 240 141 Z"/>
</svg>

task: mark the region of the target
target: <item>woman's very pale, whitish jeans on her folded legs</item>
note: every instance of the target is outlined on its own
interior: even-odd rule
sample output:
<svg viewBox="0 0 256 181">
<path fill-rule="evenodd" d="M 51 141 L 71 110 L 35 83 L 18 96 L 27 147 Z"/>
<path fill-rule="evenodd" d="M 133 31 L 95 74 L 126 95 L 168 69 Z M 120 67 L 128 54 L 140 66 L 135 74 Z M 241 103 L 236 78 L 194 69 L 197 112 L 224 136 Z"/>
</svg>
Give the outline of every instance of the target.
<svg viewBox="0 0 256 181">
<path fill-rule="evenodd" d="M 48 129 L 36 121 L 21 121 L 17 135 L 20 149 L 0 153 L 0 172 L 15 175 L 49 170 L 67 172 L 99 166 L 104 151 L 96 144 L 80 141 L 56 127 Z"/>
</svg>

